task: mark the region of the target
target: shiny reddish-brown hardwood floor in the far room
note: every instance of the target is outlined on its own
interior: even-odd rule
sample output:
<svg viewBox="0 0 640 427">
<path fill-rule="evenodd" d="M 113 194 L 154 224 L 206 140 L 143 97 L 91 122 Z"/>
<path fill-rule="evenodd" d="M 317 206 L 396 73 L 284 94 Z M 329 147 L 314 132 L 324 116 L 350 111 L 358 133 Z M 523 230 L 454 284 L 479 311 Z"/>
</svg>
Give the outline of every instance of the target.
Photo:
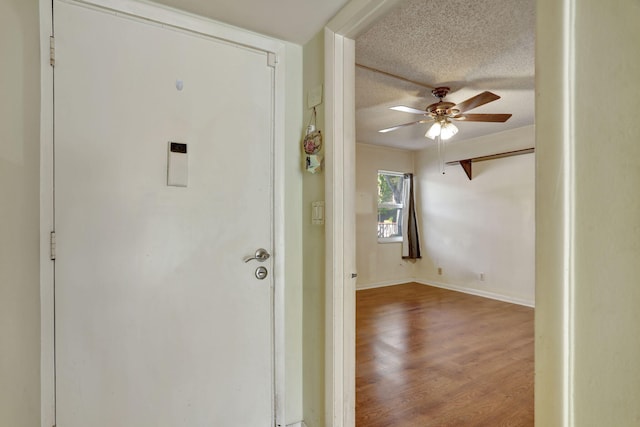
<svg viewBox="0 0 640 427">
<path fill-rule="evenodd" d="M 357 427 L 533 426 L 533 309 L 410 283 L 356 294 Z"/>
</svg>

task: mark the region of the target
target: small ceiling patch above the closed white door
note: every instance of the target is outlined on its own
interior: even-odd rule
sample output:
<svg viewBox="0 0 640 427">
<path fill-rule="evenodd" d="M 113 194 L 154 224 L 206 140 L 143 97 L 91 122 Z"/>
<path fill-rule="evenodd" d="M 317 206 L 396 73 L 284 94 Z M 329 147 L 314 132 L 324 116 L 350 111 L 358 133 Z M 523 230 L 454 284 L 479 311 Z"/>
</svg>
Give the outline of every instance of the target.
<svg viewBox="0 0 640 427">
<path fill-rule="evenodd" d="M 348 0 L 154 0 L 292 43 L 309 41 Z"/>
</svg>

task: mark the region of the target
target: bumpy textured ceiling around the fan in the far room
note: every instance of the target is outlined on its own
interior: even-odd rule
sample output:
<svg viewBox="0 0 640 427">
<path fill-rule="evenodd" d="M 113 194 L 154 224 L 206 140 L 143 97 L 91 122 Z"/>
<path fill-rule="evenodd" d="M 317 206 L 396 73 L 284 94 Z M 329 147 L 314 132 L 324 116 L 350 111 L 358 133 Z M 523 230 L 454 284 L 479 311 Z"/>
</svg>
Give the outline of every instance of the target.
<svg viewBox="0 0 640 427">
<path fill-rule="evenodd" d="M 449 86 L 459 103 L 488 90 L 501 99 L 471 113 L 512 113 L 506 123 L 456 122 L 461 141 L 534 123 L 534 0 L 406 0 L 356 39 L 356 63 L 421 82 Z M 357 140 L 422 149 L 429 124 L 381 134 L 379 129 L 419 120 L 389 110 L 424 109 L 430 89 L 356 68 Z"/>
</svg>

